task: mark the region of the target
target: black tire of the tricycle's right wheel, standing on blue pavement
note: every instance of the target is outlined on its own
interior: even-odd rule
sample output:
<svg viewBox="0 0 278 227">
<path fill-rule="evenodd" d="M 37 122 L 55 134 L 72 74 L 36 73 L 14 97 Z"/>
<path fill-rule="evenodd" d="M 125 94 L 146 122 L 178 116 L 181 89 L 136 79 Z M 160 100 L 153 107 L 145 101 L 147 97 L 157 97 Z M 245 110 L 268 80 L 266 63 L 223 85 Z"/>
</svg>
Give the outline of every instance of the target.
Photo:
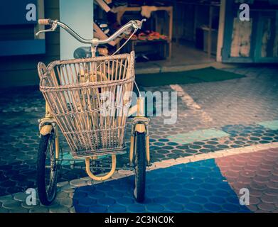
<svg viewBox="0 0 278 227">
<path fill-rule="evenodd" d="M 134 153 L 135 188 L 134 196 L 137 202 L 145 199 L 146 183 L 146 133 L 135 135 L 136 148 Z"/>
</svg>

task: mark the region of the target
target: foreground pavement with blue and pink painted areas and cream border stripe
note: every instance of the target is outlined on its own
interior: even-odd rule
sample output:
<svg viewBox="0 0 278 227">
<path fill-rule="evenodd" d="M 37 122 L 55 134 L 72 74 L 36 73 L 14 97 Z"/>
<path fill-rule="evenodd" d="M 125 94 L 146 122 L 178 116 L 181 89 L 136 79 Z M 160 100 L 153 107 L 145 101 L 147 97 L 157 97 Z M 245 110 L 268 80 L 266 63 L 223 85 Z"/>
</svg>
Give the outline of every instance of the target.
<svg viewBox="0 0 278 227">
<path fill-rule="evenodd" d="M 22 192 L 1 196 L 0 212 L 278 211 L 278 143 L 220 150 L 213 155 L 218 157 L 196 155 L 154 162 L 146 175 L 143 204 L 132 196 L 133 172 L 118 170 L 112 179 L 93 185 L 89 177 L 58 183 L 57 199 L 48 207 L 39 201 L 28 206 L 28 195 Z M 249 204 L 240 204 L 240 189 L 248 190 Z"/>
</svg>

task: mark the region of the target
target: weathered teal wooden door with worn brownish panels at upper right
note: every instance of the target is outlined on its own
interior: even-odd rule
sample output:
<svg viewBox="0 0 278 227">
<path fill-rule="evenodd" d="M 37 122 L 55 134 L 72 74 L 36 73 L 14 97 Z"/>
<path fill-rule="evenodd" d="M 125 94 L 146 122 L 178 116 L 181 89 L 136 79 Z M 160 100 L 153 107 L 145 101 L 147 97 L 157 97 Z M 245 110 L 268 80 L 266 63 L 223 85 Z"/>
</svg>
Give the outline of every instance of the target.
<svg viewBox="0 0 278 227">
<path fill-rule="evenodd" d="M 240 4 L 225 1 L 222 62 L 278 62 L 278 6 L 269 1 L 249 4 L 250 18 L 240 21 Z"/>
</svg>

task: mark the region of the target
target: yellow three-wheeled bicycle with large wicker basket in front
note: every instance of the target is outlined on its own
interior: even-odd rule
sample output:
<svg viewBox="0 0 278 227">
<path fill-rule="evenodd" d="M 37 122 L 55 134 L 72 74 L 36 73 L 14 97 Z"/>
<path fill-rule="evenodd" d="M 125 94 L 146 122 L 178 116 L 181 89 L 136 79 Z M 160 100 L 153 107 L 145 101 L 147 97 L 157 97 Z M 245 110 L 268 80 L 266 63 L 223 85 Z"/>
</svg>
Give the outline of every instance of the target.
<svg viewBox="0 0 278 227">
<path fill-rule="evenodd" d="M 55 31 L 60 26 L 80 43 L 90 44 L 92 52 L 92 57 L 57 60 L 47 67 L 38 63 L 40 90 L 46 99 L 46 115 L 39 121 L 37 186 L 41 203 L 50 205 L 56 195 L 57 173 L 63 160 L 59 154 L 58 128 L 67 140 L 73 158 L 85 159 L 87 175 L 103 181 L 113 175 L 116 155 L 125 153 L 127 118 L 135 112 L 129 164 L 134 167 L 135 199 L 144 201 L 146 165 L 150 162 L 149 119 L 144 117 L 144 98 L 140 92 L 137 105 L 131 107 L 134 52 L 95 57 L 97 45 L 109 43 L 127 31 L 132 33 L 133 28 L 131 37 L 143 21 L 129 21 L 106 40 L 84 39 L 58 20 L 41 19 L 38 23 L 51 26 L 38 33 Z M 111 170 L 105 175 L 95 175 L 92 165 L 103 156 L 111 156 Z"/>
</svg>

